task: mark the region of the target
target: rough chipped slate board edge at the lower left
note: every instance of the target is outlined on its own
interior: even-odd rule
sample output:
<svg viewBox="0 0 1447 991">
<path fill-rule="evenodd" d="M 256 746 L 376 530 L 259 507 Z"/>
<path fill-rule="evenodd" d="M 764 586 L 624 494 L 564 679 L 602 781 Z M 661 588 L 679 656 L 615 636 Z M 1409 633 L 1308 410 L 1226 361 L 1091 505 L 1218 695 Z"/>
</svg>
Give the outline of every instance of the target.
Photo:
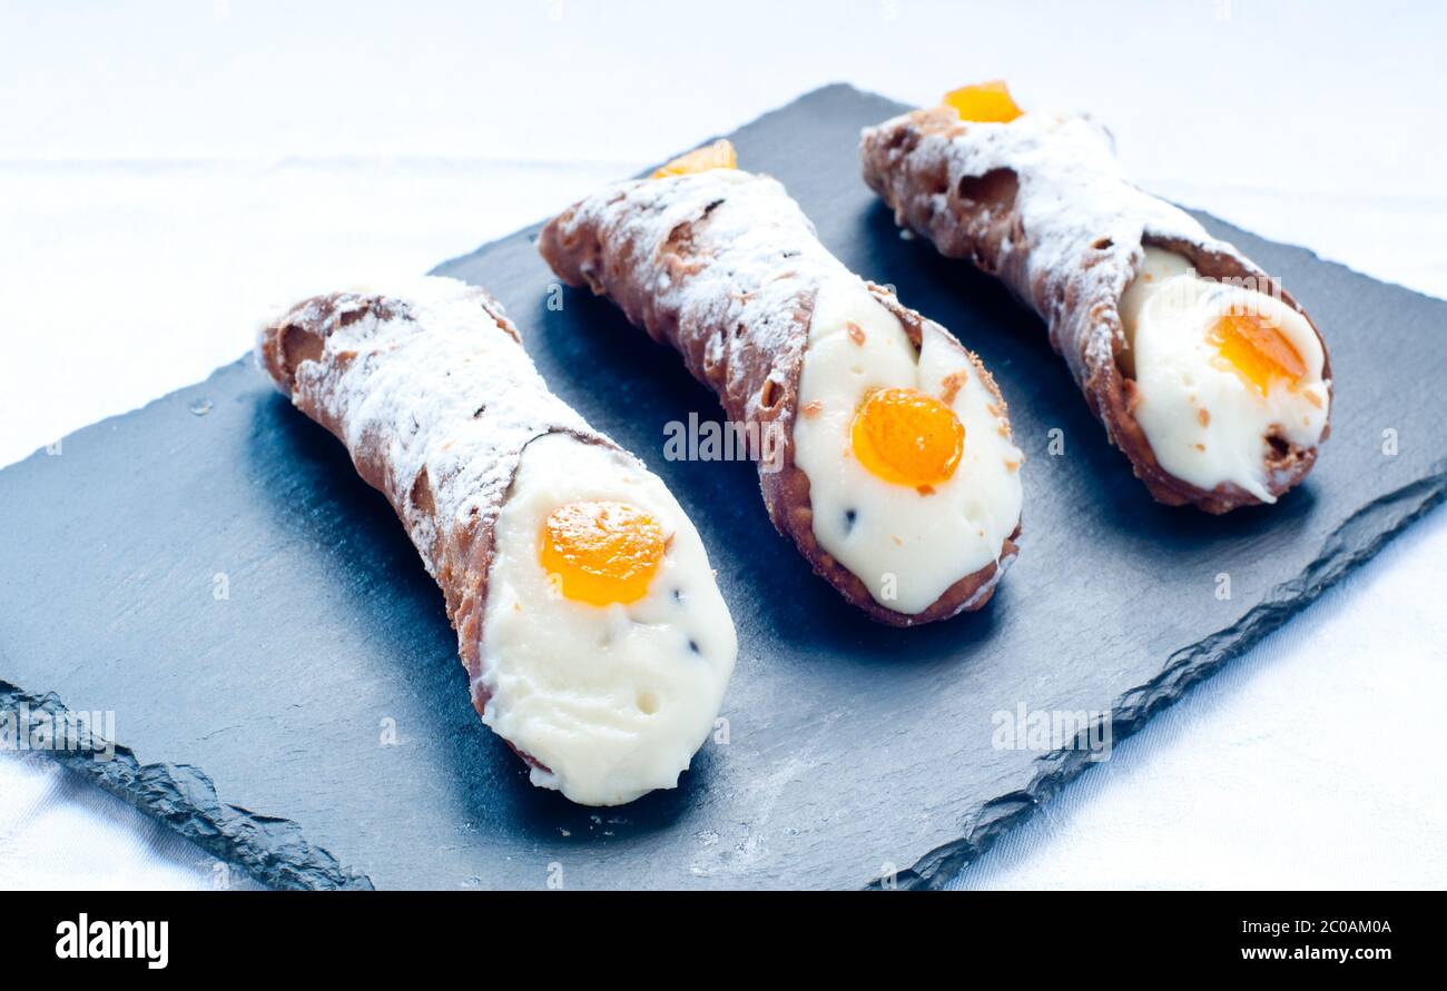
<svg viewBox="0 0 1447 991">
<path fill-rule="evenodd" d="M 30 694 L 0 679 L 0 712 L 16 712 L 22 706 L 52 719 L 68 712 L 55 693 Z M 221 801 L 211 778 L 197 767 L 142 764 L 135 751 L 120 744 L 116 744 L 110 760 L 82 749 L 46 751 L 46 755 L 166 823 L 217 859 L 239 864 L 262 884 L 311 890 L 372 888 L 366 875 L 341 867 L 331 854 L 310 843 L 295 822 Z"/>
</svg>

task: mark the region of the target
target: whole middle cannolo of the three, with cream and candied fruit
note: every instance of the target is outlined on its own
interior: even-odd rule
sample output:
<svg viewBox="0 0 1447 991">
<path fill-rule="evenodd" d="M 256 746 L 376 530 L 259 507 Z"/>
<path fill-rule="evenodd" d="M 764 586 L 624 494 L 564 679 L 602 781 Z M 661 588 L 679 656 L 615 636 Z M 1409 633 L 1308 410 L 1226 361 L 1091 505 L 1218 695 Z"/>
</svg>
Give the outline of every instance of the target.
<svg viewBox="0 0 1447 991">
<path fill-rule="evenodd" d="M 1004 399 L 942 327 L 825 249 L 726 142 L 551 220 L 538 247 L 606 295 L 770 447 L 774 527 L 849 602 L 909 626 L 978 609 L 1016 556 Z"/>
</svg>

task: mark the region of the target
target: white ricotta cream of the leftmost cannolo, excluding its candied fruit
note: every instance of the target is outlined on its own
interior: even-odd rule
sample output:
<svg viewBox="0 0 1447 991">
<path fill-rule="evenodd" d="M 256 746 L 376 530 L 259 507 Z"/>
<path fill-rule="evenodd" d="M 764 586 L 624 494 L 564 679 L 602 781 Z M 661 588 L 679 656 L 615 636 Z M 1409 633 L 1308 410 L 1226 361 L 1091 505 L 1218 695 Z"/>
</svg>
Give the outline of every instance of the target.
<svg viewBox="0 0 1447 991">
<path fill-rule="evenodd" d="M 669 537 L 637 602 L 574 602 L 544 571 L 548 515 L 589 499 L 637 506 Z M 567 434 L 528 444 L 496 522 L 482 719 L 547 768 L 534 784 L 590 806 L 674 787 L 713 731 L 737 650 L 703 543 L 658 477 Z"/>
</svg>

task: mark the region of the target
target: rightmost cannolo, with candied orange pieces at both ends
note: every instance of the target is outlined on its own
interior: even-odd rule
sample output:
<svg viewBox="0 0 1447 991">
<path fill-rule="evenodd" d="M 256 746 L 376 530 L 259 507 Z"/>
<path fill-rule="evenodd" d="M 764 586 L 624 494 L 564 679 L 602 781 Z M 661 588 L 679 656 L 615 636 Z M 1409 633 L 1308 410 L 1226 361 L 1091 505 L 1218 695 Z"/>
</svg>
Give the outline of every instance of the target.
<svg viewBox="0 0 1447 991">
<path fill-rule="evenodd" d="M 991 82 L 867 129 L 860 153 L 901 227 L 1046 321 L 1152 496 L 1220 514 L 1311 470 L 1331 404 L 1317 327 L 1236 247 L 1130 185 L 1104 127 L 1024 113 Z"/>
</svg>

